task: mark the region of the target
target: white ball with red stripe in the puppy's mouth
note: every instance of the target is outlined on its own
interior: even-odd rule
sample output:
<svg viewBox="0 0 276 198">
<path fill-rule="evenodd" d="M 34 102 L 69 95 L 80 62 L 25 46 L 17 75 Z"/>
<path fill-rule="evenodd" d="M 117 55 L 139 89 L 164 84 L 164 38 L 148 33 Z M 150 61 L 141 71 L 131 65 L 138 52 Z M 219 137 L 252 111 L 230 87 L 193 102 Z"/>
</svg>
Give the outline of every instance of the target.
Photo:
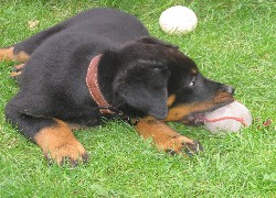
<svg viewBox="0 0 276 198">
<path fill-rule="evenodd" d="M 212 112 L 205 113 L 205 128 L 212 133 L 238 132 L 252 124 L 250 110 L 241 102 L 234 101 Z"/>
</svg>

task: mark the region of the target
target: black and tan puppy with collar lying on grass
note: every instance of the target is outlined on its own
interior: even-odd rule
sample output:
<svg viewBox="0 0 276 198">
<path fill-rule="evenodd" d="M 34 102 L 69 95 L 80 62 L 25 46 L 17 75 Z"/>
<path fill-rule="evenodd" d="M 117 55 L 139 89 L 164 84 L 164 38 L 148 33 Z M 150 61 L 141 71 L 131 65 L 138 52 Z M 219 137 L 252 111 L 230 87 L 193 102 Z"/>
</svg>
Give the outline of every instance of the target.
<svg viewBox="0 0 276 198">
<path fill-rule="evenodd" d="M 92 9 L 0 50 L 0 61 L 22 63 L 20 90 L 7 119 L 59 164 L 87 160 L 72 125 L 94 127 L 102 117 L 137 120 L 137 132 L 170 153 L 197 153 L 198 141 L 166 122 L 233 101 L 234 89 L 204 78 L 177 46 L 153 38 L 135 16 Z"/>
</svg>

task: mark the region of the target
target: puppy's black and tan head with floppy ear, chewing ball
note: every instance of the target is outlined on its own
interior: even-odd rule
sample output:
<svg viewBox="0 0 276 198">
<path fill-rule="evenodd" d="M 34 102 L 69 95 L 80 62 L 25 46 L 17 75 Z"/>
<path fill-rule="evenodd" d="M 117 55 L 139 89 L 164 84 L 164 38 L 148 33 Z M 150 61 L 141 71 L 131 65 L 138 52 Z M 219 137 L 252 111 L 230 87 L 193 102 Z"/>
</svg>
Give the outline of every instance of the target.
<svg viewBox="0 0 276 198">
<path fill-rule="evenodd" d="M 203 77 L 194 62 L 173 45 L 142 38 L 118 56 L 120 70 L 114 90 L 145 116 L 189 122 L 193 114 L 233 101 L 232 87 Z"/>
</svg>

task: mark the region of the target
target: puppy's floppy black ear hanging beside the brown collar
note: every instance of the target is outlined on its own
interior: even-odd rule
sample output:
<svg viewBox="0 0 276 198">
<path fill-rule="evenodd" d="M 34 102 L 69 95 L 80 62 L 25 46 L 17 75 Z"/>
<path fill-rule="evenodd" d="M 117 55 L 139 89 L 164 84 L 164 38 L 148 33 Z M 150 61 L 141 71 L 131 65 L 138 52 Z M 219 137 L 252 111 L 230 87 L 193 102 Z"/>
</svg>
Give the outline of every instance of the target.
<svg viewBox="0 0 276 198">
<path fill-rule="evenodd" d="M 132 67 L 117 75 L 114 88 L 129 106 L 157 119 L 164 119 L 168 114 L 168 79 L 167 67 Z"/>
</svg>

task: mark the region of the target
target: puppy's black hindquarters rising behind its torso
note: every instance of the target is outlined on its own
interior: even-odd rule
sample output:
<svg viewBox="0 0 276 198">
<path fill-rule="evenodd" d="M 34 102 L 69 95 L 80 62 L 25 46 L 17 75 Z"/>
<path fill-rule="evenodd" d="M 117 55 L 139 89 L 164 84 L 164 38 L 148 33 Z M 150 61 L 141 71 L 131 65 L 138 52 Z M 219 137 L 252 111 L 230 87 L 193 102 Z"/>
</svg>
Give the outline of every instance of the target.
<svg viewBox="0 0 276 198">
<path fill-rule="evenodd" d="M 149 35 L 147 29 L 135 16 L 115 9 L 97 8 L 82 12 L 15 44 L 13 53 L 24 52 L 30 56 L 47 38 L 67 33 L 102 36 L 118 44 Z"/>
</svg>

